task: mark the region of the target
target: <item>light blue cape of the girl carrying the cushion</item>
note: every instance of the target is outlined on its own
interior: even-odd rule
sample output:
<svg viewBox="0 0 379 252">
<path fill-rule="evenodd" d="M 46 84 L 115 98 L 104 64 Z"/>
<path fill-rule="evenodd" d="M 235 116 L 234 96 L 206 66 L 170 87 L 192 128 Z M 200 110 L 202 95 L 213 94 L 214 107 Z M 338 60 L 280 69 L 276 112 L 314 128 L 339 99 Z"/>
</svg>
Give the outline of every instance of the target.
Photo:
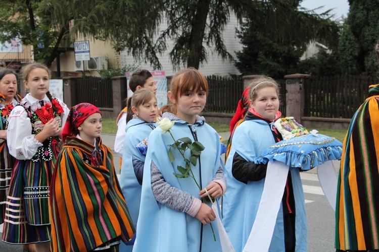
<svg viewBox="0 0 379 252">
<path fill-rule="evenodd" d="M 253 162 L 274 144 L 270 126 L 263 120 L 246 120 L 235 129 L 225 165 L 228 189 L 222 199 L 222 222 L 235 251 L 242 251 L 249 238 L 265 179 L 247 184 L 236 180 L 231 173 L 234 153 L 238 152 L 244 159 Z M 306 213 L 299 169 L 291 169 L 291 176 L 296 208 L 296 251 L 307 251 Z M 269 251 L 284 251 L 284 248 L 283 212 L 280 206 Z"/>
</svg>

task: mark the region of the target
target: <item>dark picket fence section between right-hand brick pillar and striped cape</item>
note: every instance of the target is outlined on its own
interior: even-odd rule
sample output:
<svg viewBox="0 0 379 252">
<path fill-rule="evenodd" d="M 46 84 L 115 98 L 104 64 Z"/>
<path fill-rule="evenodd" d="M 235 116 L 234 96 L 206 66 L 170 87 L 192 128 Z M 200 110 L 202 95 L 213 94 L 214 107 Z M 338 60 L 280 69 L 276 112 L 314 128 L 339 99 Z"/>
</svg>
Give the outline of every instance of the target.
<svg viewBox="0 0 379 252">
<path fill-rule="evenodd" d="M 376 77 L 341 75 L 305 80 L 305 116 L 352 118 Z"/>
</svg>

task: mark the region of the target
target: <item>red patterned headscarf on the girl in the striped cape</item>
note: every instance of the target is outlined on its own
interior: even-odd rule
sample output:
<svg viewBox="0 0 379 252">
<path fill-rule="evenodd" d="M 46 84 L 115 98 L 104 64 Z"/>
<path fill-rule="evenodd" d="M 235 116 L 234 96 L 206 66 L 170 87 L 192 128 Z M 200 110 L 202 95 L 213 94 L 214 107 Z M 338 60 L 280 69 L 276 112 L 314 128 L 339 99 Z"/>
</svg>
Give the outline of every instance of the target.
<svg viewBox="0 0 379 252">
<path fill-rule="evenodd" d="M 83 121 L 94 113 L 102 113 L 99 108 L 90 103 L 79 103 L 73 106 L 68 113 L 65 126 L 62 130 L 62 141 L 66 140 L 67 136 L 73 136 L 73 132 L 76 131 Z"/>
</svg>

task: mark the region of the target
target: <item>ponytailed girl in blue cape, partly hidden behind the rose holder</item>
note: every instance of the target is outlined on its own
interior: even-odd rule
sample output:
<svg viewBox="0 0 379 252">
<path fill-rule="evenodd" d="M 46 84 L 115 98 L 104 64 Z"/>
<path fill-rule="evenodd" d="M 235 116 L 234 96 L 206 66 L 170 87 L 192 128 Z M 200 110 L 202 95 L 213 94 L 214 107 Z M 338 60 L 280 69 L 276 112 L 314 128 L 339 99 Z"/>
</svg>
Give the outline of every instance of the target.
<svg viewBox="0 0 379 252">
<path fill-rule="evenodd" d="M 157 98 L 147 89 L 138 89 L 127 101 L 126 135 L 122 155 L 120 186 L 134 225 L 137 224 L 145 156 L 135 146 L 146 141 L 156 128 Z M 133 246 L 120 244 L 121 251 L 131 251 Z"/>
</svg>

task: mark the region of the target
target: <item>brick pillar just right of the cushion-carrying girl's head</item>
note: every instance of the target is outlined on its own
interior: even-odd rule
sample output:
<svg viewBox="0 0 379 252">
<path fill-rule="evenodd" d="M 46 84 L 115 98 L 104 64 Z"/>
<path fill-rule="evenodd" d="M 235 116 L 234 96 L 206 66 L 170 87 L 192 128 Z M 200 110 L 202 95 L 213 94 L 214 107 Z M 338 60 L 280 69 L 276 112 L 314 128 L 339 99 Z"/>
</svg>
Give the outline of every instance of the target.
<svg viewBox="0 0 379 252">
<path fill-rule="evenodd" d="M 304 80 L 310 78 L 310 75 L 293 74 L 286 75 L 286 116 L 295 117 L 296 121 L 301 123 L 301 117 L 304 116 Z"/>
</svg>

